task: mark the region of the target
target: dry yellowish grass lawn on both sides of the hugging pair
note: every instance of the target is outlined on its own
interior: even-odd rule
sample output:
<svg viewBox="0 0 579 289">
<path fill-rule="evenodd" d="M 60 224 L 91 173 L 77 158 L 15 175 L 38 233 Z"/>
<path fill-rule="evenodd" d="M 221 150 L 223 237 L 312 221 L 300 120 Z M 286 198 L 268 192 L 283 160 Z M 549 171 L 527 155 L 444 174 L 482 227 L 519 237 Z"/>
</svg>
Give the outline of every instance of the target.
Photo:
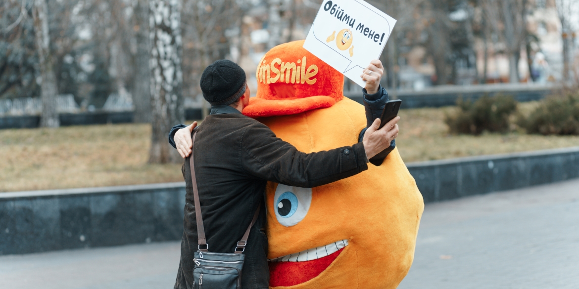
<svg viewBox="0 0 579 289">
<path fill-rule="evenodd" d="M 528 112 L 536 103 L 520 103 Z M 454 108 L 401 110 L 397 146 L 406 162 L 579 146 L 579 136 L 449 135 Z M 181 164 L 147 164 L 145 124 L 0 130 L 0 192 L 182 181 Z"/>
</svg>

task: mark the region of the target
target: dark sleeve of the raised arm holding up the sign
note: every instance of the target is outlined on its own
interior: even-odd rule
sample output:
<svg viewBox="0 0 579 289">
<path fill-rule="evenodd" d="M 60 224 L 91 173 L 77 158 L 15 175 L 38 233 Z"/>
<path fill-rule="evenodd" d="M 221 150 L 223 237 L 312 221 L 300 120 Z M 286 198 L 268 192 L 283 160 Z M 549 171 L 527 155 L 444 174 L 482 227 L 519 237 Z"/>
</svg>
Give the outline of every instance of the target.
<svg viewBox="0 0 579 289">
<path fill-rule="evenodd" d="M 384 110 L 384 106 L 386 106 L 386 102 L 389 100 L 388 92 L 382 85 L 378 87 L 378 92 L 375 94 L 368 94 L 366 88 L 362 88 L 362 93 L 364 94 L 364 108 L 366 110 L 366 128 L 360 132 L 358 142 L 362 142 L 366 129 L 372 125 L 374 120 L 382 116 L 382 110 Z M 394 150 L 394 147 L 396 147 L 396 140 L 393 139 L 389 147 L 380 151 L 380 153 L 373 156 L 369 161 L 373 165 L 381 165 L 388 154 L 390 154 L 390 151 Z"/>
</svg>

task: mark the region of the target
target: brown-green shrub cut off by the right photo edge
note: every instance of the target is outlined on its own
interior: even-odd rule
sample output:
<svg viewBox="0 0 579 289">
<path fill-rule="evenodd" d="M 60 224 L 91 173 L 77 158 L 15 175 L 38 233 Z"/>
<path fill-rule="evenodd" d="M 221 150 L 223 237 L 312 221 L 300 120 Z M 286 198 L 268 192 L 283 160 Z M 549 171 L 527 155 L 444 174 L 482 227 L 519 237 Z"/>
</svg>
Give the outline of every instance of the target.
<svg viewBox="0 0 579 289">
<path fill-rule="evenodd" d="M 519 118 L 527 134 L 579 135 L 579 90 L 543 99 L 528 117 Z"/>
</svg>

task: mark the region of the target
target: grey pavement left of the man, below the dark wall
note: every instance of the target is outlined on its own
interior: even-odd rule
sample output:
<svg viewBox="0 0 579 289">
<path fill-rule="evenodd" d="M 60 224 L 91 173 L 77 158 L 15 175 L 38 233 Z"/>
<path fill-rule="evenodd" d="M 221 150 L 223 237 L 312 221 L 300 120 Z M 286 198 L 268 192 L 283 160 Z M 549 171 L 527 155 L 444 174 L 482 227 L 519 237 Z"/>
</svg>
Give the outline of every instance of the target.
<svg viewBox="0 0 579 289">
<path fill-rule="evenodd" d="M 181 242 L 0 257 L 2 289 L 173 288 Z"/>
</svg>

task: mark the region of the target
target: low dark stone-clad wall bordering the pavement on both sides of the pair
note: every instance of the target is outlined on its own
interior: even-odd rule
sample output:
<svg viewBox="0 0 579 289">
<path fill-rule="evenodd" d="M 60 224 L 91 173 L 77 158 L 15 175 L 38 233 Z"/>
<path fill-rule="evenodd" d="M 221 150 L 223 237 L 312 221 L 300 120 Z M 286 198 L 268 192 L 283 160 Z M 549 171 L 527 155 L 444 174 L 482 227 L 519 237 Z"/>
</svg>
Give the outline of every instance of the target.
<svg viewBox="0 0 579 289">
<path fill-rule="evenodd" d="M 424 202 L 442 201 L 579 177 L 579 147 L 408 169 Z M 184 206 L 184 183 L 0 193 L 0 255 L 178 240 Z"/>
</svg>

